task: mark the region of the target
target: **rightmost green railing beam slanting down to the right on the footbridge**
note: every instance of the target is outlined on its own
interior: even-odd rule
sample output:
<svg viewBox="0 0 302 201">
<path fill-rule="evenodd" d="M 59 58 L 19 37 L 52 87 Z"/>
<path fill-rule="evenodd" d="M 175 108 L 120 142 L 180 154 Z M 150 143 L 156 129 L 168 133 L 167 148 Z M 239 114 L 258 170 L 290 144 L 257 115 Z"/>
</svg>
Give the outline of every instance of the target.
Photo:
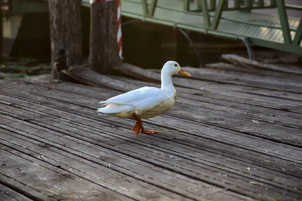
<svg viewBox="0 0 302 201">
<path fill-rule="evenodd" d="M 282 29 L 282 33 L 283 33 L 284 43 L 290 44 L 291 35 L 290 35 L 284 0 L 278 0 L 276 3 L 277 3 L 277 8 L 278 8 L 278 14 L 279 14 L 279 19 L 280 19 L 280 23 L 281 23 L 281 29 Z"/>
</svg>

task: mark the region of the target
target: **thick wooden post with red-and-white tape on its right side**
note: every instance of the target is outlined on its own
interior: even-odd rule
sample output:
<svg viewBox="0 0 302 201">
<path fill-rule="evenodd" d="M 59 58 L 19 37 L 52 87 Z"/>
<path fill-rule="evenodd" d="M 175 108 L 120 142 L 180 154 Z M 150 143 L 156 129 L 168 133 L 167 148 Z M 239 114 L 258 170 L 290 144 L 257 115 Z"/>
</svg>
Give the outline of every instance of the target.
<svg viewBox="0 0 302 201">
<path fill-rule="evenodd" d="M 110 74 L 110 65 L 121 62 L 117 47 L 116 1 L 93 3 L 90 12 L 89 63 L 93 71 Z"/>
</svg>

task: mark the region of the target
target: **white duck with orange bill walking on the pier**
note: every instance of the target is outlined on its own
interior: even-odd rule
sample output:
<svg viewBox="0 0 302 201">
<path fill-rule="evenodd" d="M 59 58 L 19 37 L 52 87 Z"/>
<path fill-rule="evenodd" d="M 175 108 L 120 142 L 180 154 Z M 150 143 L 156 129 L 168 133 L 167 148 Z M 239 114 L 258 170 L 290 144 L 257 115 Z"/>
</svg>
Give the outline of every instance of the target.
<svg viewBox="0 0 302 201">
<path fill-rule="evenodd" d="M 118 118 L 134 118 L 136 120 L 132 130 L 138 136 L 142 133 L 156 133 L 156 130 L 145 130 L 141 119 L 155 117 L 172 108 L 176 101 L 176 91 L 172 84 L 172 76 L 181 74 L 191 77 L 180 68 L 176 61 L 167 61 L 163 66 L 162 88 L 142 87 L 127 93 L 112 97 L 106 101 L 106 107 L 97 111 L 107 113 Z"/>
</svg>

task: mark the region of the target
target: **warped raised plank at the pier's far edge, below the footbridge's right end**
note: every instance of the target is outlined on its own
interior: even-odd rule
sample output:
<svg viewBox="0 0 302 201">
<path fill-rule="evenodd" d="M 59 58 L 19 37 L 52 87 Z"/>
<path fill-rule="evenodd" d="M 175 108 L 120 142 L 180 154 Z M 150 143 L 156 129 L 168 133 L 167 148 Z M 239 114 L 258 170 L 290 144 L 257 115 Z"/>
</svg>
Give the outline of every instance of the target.
<svg viewBox="0 0 302 201">
<path fill-rule="evenodd" d="M 294 66 L 286 66 L 282 67 L 282 66 L 276 66 L 276 65 L 272 65 L 272 64 L 266 64 L 266 63 L 261 63 L 255 60 L 250 60 L 248 58 L 244 58 L 235 54 L 222 54 L 222 59 L 229 61 L 231 63 L 234 63 L 235 65 L 242 65 L 242 66 L 252 66 L 255 68 L 259 68 L 259 69 L 267 69 L 267 70 L 271 70 L 271 71 L 279 71 L 279 72 L 286 72 L 286 73 L 292 73 L 292 74 L 298 74 L 298 75 L 302 75 L 302 70 L 294 67 Z"/>
</svg>

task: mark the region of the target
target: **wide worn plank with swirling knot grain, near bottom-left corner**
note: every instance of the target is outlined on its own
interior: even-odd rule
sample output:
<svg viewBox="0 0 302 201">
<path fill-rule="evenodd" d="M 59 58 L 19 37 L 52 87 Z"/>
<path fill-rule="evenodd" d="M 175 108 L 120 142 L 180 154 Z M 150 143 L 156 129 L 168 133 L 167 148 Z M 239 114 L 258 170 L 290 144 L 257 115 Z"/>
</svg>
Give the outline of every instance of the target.
<svg viewBox="0 0 302 201">
<path fill-rule="evenodd" d="M 1 173 L 43 192 L 50 197 L 46 200 L 52 200 L 51 197 L 94 200 L 99 196 L 104 198 L 107 196 L 105 193 L 108 191 L 102 192 L 101 186 L 95 188 L 93 183 L 87 184 L 85 179 L 71 176 L 67 171 L 50 167 L 45 162 L 22 155 L 3 144 L 0 152 L 0 161 L 6 164 L 1 168 Z"/>
</svg>

